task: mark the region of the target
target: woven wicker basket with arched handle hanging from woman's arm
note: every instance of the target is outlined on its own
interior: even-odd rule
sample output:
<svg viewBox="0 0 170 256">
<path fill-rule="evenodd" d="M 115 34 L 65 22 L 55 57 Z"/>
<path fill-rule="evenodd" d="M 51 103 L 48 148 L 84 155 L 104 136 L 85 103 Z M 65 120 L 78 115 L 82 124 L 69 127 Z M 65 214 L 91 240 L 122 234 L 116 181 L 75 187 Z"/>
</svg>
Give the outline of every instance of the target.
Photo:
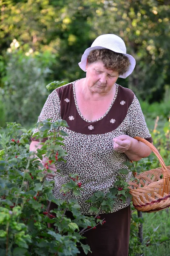
<svg viewBox="0 0 170 256">
<path fill-rule="evenodd" d="M 142 172 L 129 182 L 133 206 L 141 212 L 157 212 L 170 207 L 170 166 L 165 166 L 158 150 L 147 140 L 139 140 L 149 146 L 159 159 L 161 167 Z"/>
</svg>

